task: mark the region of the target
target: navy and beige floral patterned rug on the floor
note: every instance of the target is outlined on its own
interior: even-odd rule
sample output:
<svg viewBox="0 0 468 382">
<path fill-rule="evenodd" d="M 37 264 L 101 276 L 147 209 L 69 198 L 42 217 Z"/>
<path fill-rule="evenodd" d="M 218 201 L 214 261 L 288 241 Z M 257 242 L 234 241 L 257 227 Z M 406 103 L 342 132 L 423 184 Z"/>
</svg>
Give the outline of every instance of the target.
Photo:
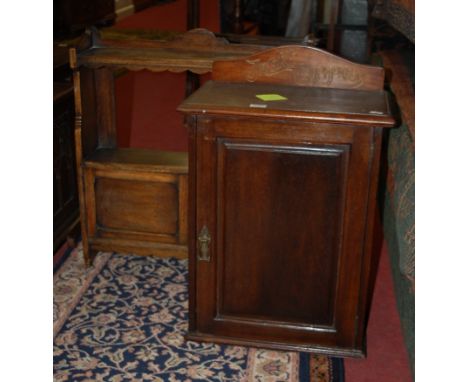
<svg viewBox="0 0 468 382">
<path fill-rule="evenodd" d="M 75 250 L 54 275 L 54 381 L 342 382 L 343 361 L 185 341 L 187 260 Z"/>
</svg>

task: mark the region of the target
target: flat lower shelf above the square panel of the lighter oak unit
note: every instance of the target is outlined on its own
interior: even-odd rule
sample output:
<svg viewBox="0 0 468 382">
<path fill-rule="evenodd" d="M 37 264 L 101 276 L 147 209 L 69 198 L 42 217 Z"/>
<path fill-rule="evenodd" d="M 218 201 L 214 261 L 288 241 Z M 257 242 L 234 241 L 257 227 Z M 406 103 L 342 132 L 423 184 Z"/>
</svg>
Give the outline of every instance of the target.
<svg viewBox="0 0 468 382">
<path fill-rule="evenodd" d="M 97 149 L 85 158 L 84 166 L 101 170 L 187 174 L 188 154 L 136 148 Z"/>
</svg>

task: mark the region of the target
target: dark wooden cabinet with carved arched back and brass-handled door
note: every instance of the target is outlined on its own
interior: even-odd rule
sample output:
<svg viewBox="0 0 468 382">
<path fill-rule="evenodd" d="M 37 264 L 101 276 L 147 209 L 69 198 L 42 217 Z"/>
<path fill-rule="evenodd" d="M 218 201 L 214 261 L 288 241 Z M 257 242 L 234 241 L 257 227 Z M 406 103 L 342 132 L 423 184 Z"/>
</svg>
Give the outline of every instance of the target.
<svg viewBox="0 0 468 382">
<path fill-rule="evenodd" d="M 179 107 L 187 338 L 363 356 L 381 138 L 394 125 L 383 68 L 283 46 L 217 61 L 212 78 Z"/>
</svg>

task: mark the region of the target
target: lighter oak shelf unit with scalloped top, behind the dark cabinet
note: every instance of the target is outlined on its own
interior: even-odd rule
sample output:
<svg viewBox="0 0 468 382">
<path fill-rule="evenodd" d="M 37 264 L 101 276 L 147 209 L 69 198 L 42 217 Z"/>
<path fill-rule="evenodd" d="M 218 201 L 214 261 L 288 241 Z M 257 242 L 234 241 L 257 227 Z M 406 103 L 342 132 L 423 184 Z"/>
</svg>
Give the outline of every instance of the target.
<svg viewBox="0 0 468 382">
<path fill-rule="evenodd" d="M 187 257 L 187 153 L 119 148 L 117 71 L 207 73 L 214 61 L 266 49 L 231 45 L 203 29 L 165 41 L 101 39 L 94 30 L 70 50 L 85 261 L 97 251 Z"/>
</svg>

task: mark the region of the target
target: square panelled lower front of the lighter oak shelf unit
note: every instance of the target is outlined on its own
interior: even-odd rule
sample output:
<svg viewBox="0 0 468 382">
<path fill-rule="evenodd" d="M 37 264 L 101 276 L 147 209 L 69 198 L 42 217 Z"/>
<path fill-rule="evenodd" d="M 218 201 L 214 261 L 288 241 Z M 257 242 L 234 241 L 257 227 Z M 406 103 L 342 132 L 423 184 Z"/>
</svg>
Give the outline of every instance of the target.
<svg viewBox="0 0 468 382">
<path fill-rule="evenodd" d="M 186 256 L 186 174 L 134 171 L 131 165 L 119 169 L 117 164 L 109 171 L 99 161 L 87 165 L 84 196 L 93 249 Z"/>
</svg>

